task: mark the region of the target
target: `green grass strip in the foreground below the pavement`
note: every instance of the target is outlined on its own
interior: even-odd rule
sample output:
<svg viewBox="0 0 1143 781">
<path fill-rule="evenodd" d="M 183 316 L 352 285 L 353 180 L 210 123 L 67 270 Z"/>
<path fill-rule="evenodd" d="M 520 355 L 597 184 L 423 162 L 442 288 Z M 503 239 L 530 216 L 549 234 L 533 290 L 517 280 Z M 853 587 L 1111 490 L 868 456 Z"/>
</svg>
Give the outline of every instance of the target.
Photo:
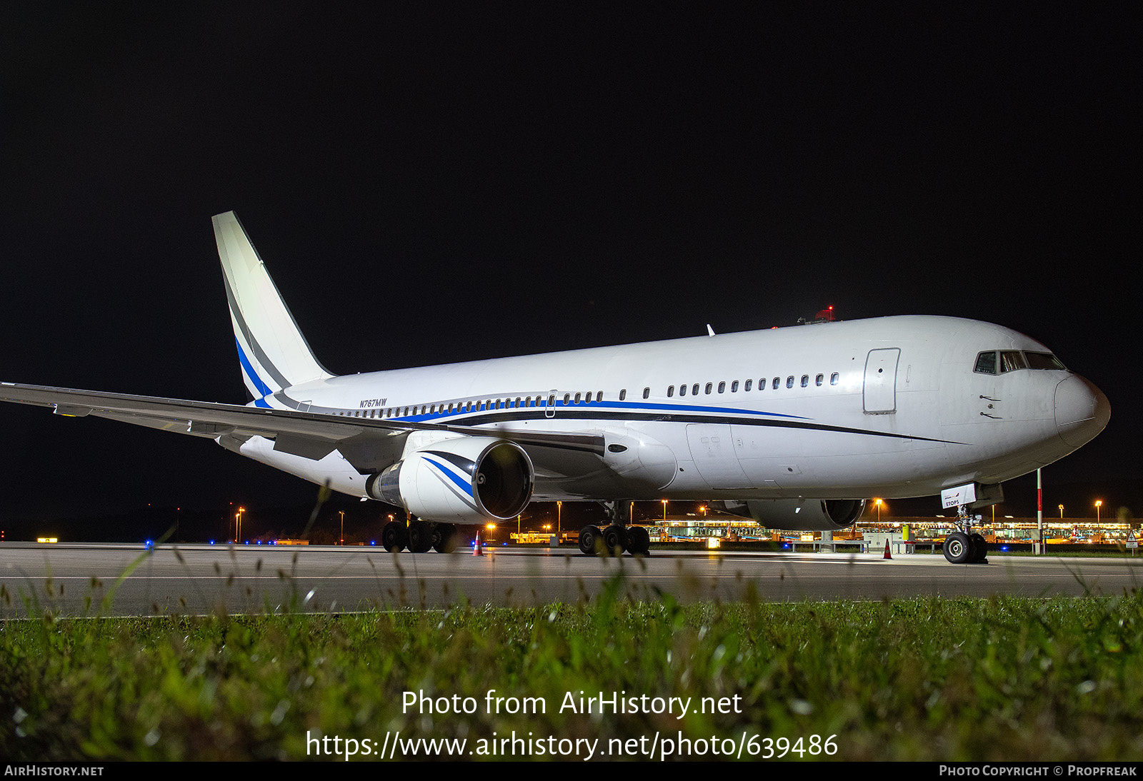
<svg viewBox="0 0 1143 781">
<path fill-rule="evenodd" d="M 379 744 L 399 730 L 470 743 L 836 735 L 832 758 L 847 760 L 1143 758 L 1138 593 L 682 606 L 622 588 L 581 606 L 6 621 L 0 756 L 295 759 L 307 731 Z M 490 689 L 546 712 L 489 712 Z M 402 712 L 408 690 L 479 707 Z M 738 695 L 742 712 L 561 714 L 581 691 L 693 707 Z"/>
</svg>

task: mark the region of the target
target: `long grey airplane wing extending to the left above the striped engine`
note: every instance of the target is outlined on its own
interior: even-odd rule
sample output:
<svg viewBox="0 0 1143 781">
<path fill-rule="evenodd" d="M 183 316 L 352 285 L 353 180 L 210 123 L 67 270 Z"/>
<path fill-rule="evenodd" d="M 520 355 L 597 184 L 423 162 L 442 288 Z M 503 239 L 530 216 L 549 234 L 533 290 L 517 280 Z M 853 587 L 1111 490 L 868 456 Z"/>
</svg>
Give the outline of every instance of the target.
<svg viewBox="0 0 1143 781">
<path fill-rule="evenodd" d="M 137 396 L 102 390 L 56 388 L 0 383 L 0 401 L 54 408 L 56 414 L 82 418 L 94 414 L 177 434 L 238 440 L 262 436 L 274 441 L 274 450 L 319 460 L 339 450 L 359 472 L 384 468 L 401 457 L 405 435 L 411 430 L 451 432 L 457 435 L 495 435 L 526 448 L 558 449 L 602 456 L 604 437 L 559 432 L 505 432 L 499 429 L 377 418 L 279 410 L 245 404 Z M 399 437 L 399 438 L 394 438 Z M 386 446 L 378 450 L 376 445 Z M 381 456 L 381 453 L 385 453 Z M 378 460 L 378 457 L 381 460 Z"/>
</svg>

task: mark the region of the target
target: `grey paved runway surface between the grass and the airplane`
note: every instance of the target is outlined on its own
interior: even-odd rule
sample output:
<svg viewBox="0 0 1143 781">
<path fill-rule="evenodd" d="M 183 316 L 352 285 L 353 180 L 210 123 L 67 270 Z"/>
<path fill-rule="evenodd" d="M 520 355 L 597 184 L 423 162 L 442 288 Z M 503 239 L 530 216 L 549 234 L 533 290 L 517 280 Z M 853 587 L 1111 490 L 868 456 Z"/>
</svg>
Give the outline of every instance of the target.
<svg viewBox="0 0 1143 781">
<path fill-rule="evenodd" d="M 133 569 L 134 567 L 134 569 Z M 123 577 L 125 573 L 126 577 Z M 1138 558 L 652 551 L 592 558 L 570 548 L 400 554 L 360 547 L 0 544 L 0 617 L 354 611 L 577 602 L 609 583 L 681 601 L 1116 595 L 1143 582 Z"/>
</svg>

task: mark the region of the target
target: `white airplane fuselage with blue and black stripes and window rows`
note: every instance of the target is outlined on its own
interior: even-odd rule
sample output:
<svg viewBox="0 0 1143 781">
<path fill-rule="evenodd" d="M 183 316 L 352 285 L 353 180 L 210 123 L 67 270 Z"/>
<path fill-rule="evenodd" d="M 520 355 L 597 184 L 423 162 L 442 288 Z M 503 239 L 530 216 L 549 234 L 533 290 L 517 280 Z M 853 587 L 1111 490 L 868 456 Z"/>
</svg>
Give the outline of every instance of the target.
<svg viewBox="0 0 1143 781">
<path fill-rule="evenodd" d="M 986 351 L 1049 353 L 999 325 L 895 316 L 334 377 L 254 403 L 601 442 L 525 443 L 538 500 L 918 497 L 1034 470 L 1106 424 L 1084 378 L 983 373 Z M 336 450 L 310 460 L 257 436 L 234 449 L 367 496 Z"/>
</svg>

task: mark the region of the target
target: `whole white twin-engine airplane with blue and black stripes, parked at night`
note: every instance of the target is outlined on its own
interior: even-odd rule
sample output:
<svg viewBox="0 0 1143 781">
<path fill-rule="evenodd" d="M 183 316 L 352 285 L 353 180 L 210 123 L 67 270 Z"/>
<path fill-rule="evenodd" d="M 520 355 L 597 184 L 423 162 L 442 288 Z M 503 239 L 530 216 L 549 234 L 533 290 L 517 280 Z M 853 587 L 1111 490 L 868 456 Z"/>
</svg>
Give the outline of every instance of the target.
<svg viewBox="0 0 1143 781">
<path fill-rule="evenodd" d="M 713 500 L 783 530 L 840 530 L 870 497 L 942 497 L 944 555 L 1001 483 L 1071 453 L 1110 404 L 1046 346 L 985 322 L 898 315 L 337 377 L 314 357 L 234 212 L 213 218 L 247 404 L 0 383 L 0 400 L 209 437 L 401 507 L 389 550 L 530 501 L 599 501 L 580 549 L 647 553 L 623 502 Z M 978 518 L 980 516 L 975 516 Z M 415 520 L 414 520 L 415 518 Z"/>
</svg>

